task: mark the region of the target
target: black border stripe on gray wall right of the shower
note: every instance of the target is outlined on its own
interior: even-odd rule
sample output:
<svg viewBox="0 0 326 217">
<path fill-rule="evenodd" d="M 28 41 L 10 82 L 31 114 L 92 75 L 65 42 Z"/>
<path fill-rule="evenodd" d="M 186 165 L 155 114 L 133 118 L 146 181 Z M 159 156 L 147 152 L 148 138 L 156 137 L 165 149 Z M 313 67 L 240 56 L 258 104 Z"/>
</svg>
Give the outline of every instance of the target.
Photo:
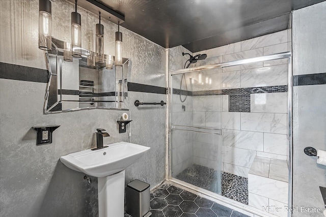
<svg viewBox="0 0 326 217">
<path fill-rule="evenodd" d="M 294 75 L 293 86 L 326 84 L 326 73 Z"/>
</svg>

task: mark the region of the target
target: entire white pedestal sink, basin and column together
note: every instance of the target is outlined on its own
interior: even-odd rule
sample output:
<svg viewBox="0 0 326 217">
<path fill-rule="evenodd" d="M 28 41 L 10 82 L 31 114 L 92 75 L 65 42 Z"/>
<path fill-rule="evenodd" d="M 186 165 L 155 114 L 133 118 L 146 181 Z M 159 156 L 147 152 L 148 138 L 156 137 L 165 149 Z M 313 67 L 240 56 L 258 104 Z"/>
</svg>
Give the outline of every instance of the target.
<svg viewBox="0 0 326 217">
<path fill-rule="evenodd" d="M 125 169 L 150 147 L 128 142 L 107 146 L 70 153 L 62 156 L 60 161 L 72 170 L 98 177 L 99 217 L 123 217 Z"/>
</svg>

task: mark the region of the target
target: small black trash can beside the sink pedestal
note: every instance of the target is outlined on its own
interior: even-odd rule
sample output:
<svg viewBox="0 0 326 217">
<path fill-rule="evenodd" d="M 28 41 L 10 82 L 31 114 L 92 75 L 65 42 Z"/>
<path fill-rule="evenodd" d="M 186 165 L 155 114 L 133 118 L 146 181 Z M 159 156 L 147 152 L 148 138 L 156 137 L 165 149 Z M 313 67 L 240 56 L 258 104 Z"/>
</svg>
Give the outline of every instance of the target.
<svg viewBox="0 0 326 217">
<path fill-rule="evenodd" d="M 133 217 L 149 217 L 150 185 L 135 179 L 127 184 L 126 212 Z"/>
</svg>

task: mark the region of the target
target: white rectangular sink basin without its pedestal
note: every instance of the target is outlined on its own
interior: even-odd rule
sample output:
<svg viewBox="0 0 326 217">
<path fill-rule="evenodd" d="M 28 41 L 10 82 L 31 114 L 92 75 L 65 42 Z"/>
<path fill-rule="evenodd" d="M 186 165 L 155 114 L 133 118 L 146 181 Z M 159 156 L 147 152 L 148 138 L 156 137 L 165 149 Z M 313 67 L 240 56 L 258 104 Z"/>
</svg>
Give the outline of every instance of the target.
<svg viewBox="0 0 326 217">
<path fill-rule="evenodd" d="M 140 159 L 150 147 L 128 142 L 108 144 L 99 150 L 83 150 L 62 156 L 68 168 L 96 177 L 105 177 L 126 169 Z"/>
</svg>

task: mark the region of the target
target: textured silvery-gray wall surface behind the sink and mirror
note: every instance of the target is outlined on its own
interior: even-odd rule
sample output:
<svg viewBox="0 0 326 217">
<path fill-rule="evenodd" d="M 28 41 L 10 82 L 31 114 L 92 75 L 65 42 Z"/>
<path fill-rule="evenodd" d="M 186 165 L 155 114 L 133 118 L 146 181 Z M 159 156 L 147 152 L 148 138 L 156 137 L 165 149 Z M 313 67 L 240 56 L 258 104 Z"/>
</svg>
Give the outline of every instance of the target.
<svg viewBox="0 0 326 217">
<path fill-rule="evenodd" d="M 52 35 L 70 38 L 73 5 L 52 1 Z M 38 1 L 1 3 L 0 61 L 46 69 L 44 51 L 38 49 Z M 91 48 L 97 15 L 82 9 L 83 45 Z M 114 53 L 117 25 L 103 20 L 105 53 Z M 12 25 L 14 23 L 14 25 Z M 19 30 L 18 30 L 19 29 Z M 128 81 L 166 87 L 164 48 L 124 28 L 124 56 L 129 57 Z M 88 47 L 89 46 L 89 47 Z M 10 52 L 9 52 L 10 51 Z M 37 72 L 35 72 L 37 73 Z M 83 180 L 85 174 L 65 167 L 65 154 L 96 145 L 94 132 L 101 127 L 111 137 L 104 143 L 128 141 L 119 134 L 116 120 L 123 111 L 83 110 L 43 114 L 46 84 L 0 79 L 0 215 L 1 216 L 97 216 L 97 179 Z M 129 95 L 130 94 L 130 95 Z M 127 168 L 126 183 L 138 178 L 159 184 L 165 178 L 166 106 L 135 107 L 133 101 L 166 101 L 166 95 L 129 92 L 131 142 L 151 147 L 139 162 Z M 53 142 L 36 146 L 32 126 L 61 125 L 53 132 Z"/>
</svg>

